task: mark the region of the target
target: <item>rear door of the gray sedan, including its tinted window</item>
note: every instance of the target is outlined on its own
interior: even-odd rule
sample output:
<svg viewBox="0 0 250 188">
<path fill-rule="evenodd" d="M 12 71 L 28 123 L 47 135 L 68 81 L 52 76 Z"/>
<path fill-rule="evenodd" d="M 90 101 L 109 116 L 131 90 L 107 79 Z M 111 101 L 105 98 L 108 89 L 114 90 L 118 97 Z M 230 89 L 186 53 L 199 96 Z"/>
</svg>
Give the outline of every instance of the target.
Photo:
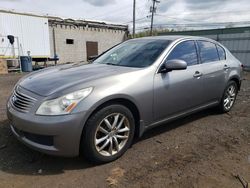
<svg viewBox="0 0 250 188">
<path fill-rule="evenodd" d="M 197 41 L 204 82 L 204 102 L 212 103 L 220 100 L 225 87 L 225 54 L 217 44 Z M 225 53 L 225 51 L 224 51 Z"/>
</svg>

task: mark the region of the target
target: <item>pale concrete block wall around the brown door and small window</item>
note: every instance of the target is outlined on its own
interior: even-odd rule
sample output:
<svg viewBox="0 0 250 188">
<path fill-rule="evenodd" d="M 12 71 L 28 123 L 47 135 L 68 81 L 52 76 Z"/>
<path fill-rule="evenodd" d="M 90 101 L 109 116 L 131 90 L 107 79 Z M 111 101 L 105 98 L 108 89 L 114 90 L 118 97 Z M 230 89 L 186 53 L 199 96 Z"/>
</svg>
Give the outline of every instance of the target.
<svg viewBox="0 0 250 188">
<path fill-rule="evenodd" d="M 87 60 L 86 42 L 98 42 L 98 54 L 124 41 L 126 32 L 114 29 L 74 27 L 65 25 L 50 26 L 51 56 L 54 56 L 53 28 L 55 31 L 56 54 L 58 63 L 81 62 Z M 73 39 L 74 44 L 66 44 Z"/>
</svg>

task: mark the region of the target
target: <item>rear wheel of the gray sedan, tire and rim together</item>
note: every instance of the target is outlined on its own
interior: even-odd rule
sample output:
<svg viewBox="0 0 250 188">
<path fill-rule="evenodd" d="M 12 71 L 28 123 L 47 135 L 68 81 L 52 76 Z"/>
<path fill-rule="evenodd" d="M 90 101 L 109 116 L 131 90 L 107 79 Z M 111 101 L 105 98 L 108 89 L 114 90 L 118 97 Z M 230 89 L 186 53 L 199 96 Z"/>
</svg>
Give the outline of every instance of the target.
<svg viewBox="0 0 250 188">
<path fill-rule="evenodd" d="M 237 94 L 238 94 L 238 86 L 236 82 L 233 80 L 229 81 L 227 83 L 221 102 L 219 104 L 219 110 L 221 113 L 227 113 L 232 109 L 235 103 Z"/>
</svg>

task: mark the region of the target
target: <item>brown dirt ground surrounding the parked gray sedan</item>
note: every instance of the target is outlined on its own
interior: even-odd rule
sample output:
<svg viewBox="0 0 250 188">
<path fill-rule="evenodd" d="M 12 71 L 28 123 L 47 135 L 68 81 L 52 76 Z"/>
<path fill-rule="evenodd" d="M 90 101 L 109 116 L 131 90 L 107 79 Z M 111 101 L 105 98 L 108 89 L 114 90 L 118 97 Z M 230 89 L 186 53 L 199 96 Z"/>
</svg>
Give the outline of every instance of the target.
<svg viewBox="0 0 250 188">
<path fill-rule="evenodd" d="M 250 182 L 250 73 L 228 114 L 214 109 L 147 132 L 119 160 L 40 154 L 19 143 L 5 104 L 20 74 L 0 76 L 0 187 L 243 187 Z"/>
</svg>

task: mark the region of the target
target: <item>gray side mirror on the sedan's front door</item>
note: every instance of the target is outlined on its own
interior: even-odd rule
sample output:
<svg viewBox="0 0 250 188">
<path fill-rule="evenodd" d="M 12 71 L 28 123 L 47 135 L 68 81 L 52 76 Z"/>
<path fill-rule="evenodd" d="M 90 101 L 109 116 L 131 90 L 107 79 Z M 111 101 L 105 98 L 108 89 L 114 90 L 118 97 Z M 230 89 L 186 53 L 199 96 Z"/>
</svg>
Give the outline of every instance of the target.
<svg viewBox="0 0 250 188">
<path fill-rule="evenodd" d="M 161 72 L 170 72 L 172 70 L 187 69 L 187 62 L 180 59 L 173 59 L 164 62 Z"/>
</svg>

